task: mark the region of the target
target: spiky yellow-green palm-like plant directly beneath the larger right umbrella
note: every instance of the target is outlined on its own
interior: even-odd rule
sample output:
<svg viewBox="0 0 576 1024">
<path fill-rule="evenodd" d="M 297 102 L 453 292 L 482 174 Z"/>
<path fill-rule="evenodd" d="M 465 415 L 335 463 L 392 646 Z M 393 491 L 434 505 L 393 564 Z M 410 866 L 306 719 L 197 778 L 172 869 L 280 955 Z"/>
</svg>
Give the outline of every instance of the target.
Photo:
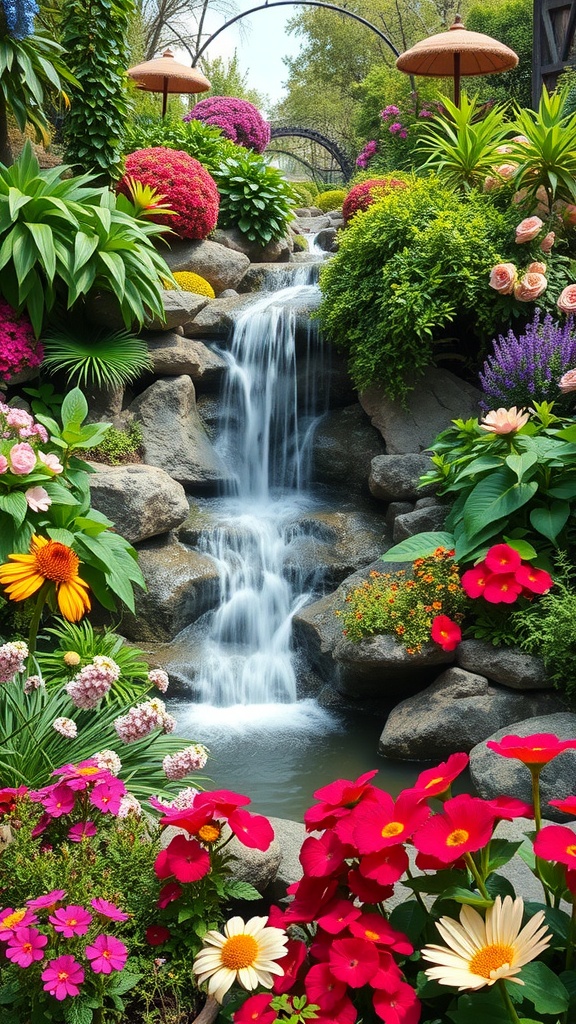
<svg viewBox="0 0 576 1024">
<path fill-rule="evenodd" d="M 426 125 L 417 146 L 427 154 L 422 166 L 452 188 L 480 186 L 502 162 L 498 146 L 507 131 L 505 106 L 495 105 L 482 116 L 476 97 L 468 99 L 465 93 L 459 106 L 446 96 L 442 103 L 446 114 Z"/>
</svg>

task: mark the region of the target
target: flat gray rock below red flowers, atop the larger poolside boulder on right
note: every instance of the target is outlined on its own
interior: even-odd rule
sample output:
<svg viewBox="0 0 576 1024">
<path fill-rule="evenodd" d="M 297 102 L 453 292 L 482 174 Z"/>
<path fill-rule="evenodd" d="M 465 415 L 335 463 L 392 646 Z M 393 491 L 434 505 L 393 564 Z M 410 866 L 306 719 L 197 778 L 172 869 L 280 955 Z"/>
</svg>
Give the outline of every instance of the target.
<svg viewBox="0 0 576 1024">
<path fill-rule="evenodd" d="M 463 640 L 456 660 L 463 669 L 481 672 L 495 683 L 512 690 L 541 690 L 551 687 L 541 657 L 516 647 L 494 647 L 484 640 Z"/>
</svg>

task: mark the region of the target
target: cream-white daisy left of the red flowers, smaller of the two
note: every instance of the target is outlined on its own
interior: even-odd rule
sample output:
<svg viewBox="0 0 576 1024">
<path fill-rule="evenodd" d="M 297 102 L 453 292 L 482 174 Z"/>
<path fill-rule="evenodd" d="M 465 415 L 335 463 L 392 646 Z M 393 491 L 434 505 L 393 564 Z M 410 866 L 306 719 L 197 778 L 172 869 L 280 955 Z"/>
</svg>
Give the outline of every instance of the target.
<svg viewBox="0 0 576 1024">
<path fill-rule="evenodd" d="M 220 932 L 207 932 L 204 949 L 194 962 L 198 983 L 208 982 L 208 995 L 221 1002 L 229 988 L 239 981 L 251 991 L 258 985 L 272 988 L 273 974 L 284 970 L 275 963 L 286 955 L 288 936 L 281 928 L 266 928 L 268 918 L 231 918 Z"/>
</svg>

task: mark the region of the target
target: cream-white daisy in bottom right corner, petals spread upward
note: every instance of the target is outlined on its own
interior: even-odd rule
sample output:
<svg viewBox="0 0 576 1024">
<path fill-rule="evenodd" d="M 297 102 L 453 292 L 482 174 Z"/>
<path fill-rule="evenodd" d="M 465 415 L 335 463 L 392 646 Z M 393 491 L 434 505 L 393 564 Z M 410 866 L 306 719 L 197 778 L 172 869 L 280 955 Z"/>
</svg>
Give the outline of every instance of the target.
<svg viewBox="0 0 576 1024">
<path fill-rule="evenodd" d="M 436 927 L 449 948 L 429 945 L 422 949 L 424 959 L 440 965 L 428 968 L 425 974 L 459 991 L 493 985 L 499 978 L 524 985 L 515 975 L 546 949 L 551 935 L 545 925 L 541 927 L 542 910 L 521 931 L 523 914 L 524 902 L 520 897 L 512 900 L 511 896 L 504 896 L 502 902 L 497 896 L 486 911 L 486 921 L 466 905 L 460 910 L 460 924 L 451 918 L 441 918 Z"/>
</svg>

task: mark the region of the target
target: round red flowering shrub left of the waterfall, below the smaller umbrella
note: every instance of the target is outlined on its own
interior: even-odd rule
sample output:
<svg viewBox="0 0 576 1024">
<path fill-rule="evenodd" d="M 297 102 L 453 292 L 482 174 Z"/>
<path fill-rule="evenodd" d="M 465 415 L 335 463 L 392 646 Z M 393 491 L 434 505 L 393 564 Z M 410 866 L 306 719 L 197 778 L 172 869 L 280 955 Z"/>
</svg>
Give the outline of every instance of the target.
<svg viewBox="0 0 576 1024">
<path fill-rule="evenodd" d="M 167 224 L 182 239 L 205 239 L 216 226 L 219 197 L 214 179 L 181 150 L 155 146 L 136 150 L 126 158 L 118 191 L 130 198 L 129 179 L 151 185 L 167 202 L 175 216 L 155 214 L 150 220 Z"/>
</svg>

